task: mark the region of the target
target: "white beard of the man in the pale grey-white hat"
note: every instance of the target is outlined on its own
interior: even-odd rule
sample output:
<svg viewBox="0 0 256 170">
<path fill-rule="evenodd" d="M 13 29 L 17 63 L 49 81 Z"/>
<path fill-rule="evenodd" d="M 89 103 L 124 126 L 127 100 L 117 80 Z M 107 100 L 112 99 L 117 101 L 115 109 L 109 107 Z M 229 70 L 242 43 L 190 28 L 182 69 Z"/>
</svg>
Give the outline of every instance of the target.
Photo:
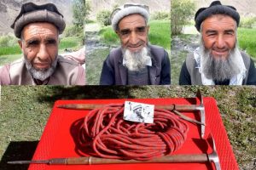
<svg viewBox="0 0 256 170">
<path fill-rule="evenodd" d="M 125 66 L 129 71 L 140 71 L 151 60 L 149 49 L 146 47 L 137 52 L 131 52 L 127 48 L 122 48 L 122 53 L 125 59 Z"/>
</svg>

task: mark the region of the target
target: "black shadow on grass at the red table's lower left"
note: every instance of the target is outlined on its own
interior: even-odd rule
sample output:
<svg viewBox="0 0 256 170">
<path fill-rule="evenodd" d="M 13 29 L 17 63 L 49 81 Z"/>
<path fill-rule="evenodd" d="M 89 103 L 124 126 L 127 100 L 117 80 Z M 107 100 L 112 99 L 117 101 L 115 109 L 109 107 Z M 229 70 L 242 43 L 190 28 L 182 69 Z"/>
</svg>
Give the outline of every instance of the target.
<svg viewBox="0 0 256 170">
<path fill-rule="evenodd" d="M 7 161 L 32 160 L 32 156 L 38 146 L 38 141 L 14 141 L 10 142 L 0 161 L 1 170 L 25 170 L 29 165 L 10 165 Z"/>
</svg>

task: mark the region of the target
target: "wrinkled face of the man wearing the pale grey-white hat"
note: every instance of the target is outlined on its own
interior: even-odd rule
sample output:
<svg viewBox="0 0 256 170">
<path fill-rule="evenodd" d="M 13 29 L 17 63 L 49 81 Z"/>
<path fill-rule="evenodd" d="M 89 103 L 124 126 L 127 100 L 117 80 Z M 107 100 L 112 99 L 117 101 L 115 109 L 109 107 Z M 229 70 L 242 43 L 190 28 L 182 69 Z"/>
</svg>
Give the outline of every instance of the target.
<svg viewBox="0 0 256 170">
<path fill-rule="evenodd" d="M 146 47 L 148 42 L 148 29 L 145 19 L 140 14 L 125 16 L 119 21 L 119 35 L 123 48 L 128 48 L 131 52 L 136 52 Z"/>
</svg>

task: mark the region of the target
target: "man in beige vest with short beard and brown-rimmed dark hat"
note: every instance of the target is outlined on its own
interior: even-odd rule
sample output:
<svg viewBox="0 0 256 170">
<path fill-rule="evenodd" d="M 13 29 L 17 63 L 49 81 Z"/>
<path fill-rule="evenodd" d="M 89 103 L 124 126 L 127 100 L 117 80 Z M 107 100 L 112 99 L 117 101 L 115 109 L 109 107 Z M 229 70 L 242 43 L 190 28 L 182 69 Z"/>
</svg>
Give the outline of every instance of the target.
<svg viewBox="0 0 256 170">
<path fill-rule="evenodd" d="M 52 3 L 25 3 L 11 26 L 24 58 L 0 70 L 1 85 L 84 85 L 85 71 L 58 55 L 59 34 L 65 29 L 62 14 Z"/>
</svg>

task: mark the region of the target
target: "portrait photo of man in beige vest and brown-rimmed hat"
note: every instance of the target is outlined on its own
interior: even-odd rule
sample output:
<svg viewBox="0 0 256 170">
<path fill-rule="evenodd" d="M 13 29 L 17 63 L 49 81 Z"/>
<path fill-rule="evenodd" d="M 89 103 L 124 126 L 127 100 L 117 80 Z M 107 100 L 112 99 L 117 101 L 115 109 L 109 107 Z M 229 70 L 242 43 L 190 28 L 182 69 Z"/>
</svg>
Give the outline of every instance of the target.
<svg viewBox="0 0 256 170">
<path fill-rule="evenodd" d="M 83 2 L 1 3 L 0 84 L 84 85 Z"/>
</svg>

